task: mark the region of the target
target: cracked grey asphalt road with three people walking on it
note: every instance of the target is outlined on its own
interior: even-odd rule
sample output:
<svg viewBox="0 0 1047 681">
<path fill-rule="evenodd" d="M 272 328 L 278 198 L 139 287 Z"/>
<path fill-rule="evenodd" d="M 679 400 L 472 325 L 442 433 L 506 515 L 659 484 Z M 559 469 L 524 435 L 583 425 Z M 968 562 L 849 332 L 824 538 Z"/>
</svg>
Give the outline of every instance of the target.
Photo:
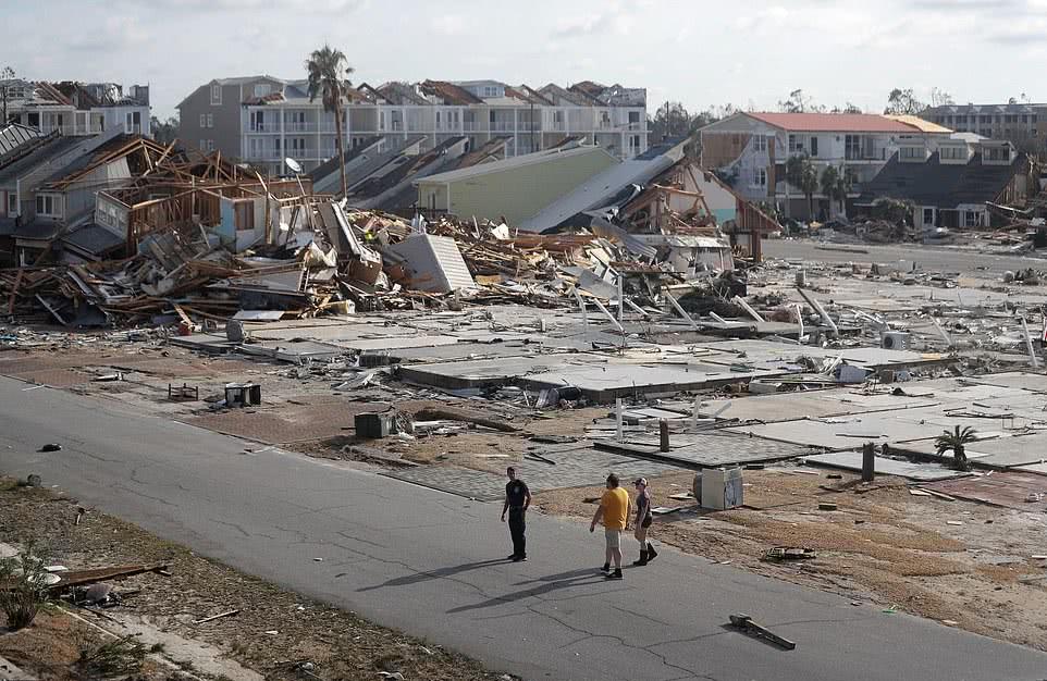
<svg viewBox="0 0 1047 681">
<path fill-rule="evenodd" d="M 527 679 L 1047 678 L 1043 653 L 669 549 L 605 582 L 603 538 L 577 523 L 532 516 L 531 559 L 508 564 L 500 505 L 25 387 L 0 379 L 0 470 Z M 732 612 L 797 648 L 725 628 Z"/>
</svg>

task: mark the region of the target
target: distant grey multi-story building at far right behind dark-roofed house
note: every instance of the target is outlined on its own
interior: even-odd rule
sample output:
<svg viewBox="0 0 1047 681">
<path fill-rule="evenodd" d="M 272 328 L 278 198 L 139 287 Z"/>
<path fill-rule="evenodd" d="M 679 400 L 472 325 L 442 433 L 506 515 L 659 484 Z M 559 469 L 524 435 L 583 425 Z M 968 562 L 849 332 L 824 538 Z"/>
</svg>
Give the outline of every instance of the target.
<svg viewBox="0 0 1047 681">
<path fill-rule="evenodd" d="M 958 133 L 1006 139 L 1024 151 L 1047 152 L 1047 104 L 944 104 L 921 117 Z"/>
</svg>

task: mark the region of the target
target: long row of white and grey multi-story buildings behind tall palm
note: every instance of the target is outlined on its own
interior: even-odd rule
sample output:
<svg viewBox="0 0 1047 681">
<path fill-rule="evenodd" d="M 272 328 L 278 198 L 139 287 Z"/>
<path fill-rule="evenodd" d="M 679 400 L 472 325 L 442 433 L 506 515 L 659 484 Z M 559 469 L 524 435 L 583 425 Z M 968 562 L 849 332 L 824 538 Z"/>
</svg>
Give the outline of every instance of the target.
<svg viewBox="0 0 1047 681">
<path fill-rule="evenodd" d="M 273 174 L 290 172 L 285 158 L 308 172 L 336 156 L 334 115 L 319 99 L 309 100 L 305 81 L 215 79 L 186 97 L 178 110 L 178 138 L 187 147 L 218 149 Z M 567 138 L 619 158 L 648 148 L 646 91 L 590 82 L 540 89 L 496 81 L 362 84 L 349 90 L 342 121 L 350 149 L 375 136 L 390 144 L 422 136 L 422 152 L 455 137 L 465 138 L 469 149 L 502 138 L 508 157 Z"/>
</svg>

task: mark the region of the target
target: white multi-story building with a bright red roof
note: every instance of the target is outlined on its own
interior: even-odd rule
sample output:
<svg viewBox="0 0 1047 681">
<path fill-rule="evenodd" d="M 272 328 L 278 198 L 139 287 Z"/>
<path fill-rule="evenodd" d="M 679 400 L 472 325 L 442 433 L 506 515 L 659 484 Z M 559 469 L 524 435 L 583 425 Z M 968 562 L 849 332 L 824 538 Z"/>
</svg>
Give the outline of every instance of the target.
<svg viewBox="0 0 1047 681">
<path fill-rule="evenodd" d="M 843 166 L 854 178 L 857 197 L 896 153 L 926 159 L 951 134 L 915 116 L 743 112 L 701 129 L 702 164 L 723 171 L 750 201 L 777 203 L 791 216 L 813 218 L 803 194 L 786 182 L 789 157 L 806 156 L 818 175 L 828 165 Z M 825 197 L 816 191 L 813 198 L 817 212 Z M 832 201 L 824 203 L 832 210 Z"/>
</svg>

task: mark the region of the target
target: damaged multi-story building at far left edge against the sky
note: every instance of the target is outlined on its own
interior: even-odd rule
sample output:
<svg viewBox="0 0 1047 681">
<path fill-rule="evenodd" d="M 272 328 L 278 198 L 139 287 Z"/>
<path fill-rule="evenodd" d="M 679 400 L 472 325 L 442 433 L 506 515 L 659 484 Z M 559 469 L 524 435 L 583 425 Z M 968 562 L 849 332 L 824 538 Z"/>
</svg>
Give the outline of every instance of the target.
<svg viewBox="0 0 1047 681">
<path fill-rule="evenodd" d="M 34 83 L 0 81 L 0 107 L 7 123 L 44 133 L 98 135 L 119 128 L 149 137 L 149 87 L 132 85 L 124 92 L 116 83 Z"/>
</svg>

